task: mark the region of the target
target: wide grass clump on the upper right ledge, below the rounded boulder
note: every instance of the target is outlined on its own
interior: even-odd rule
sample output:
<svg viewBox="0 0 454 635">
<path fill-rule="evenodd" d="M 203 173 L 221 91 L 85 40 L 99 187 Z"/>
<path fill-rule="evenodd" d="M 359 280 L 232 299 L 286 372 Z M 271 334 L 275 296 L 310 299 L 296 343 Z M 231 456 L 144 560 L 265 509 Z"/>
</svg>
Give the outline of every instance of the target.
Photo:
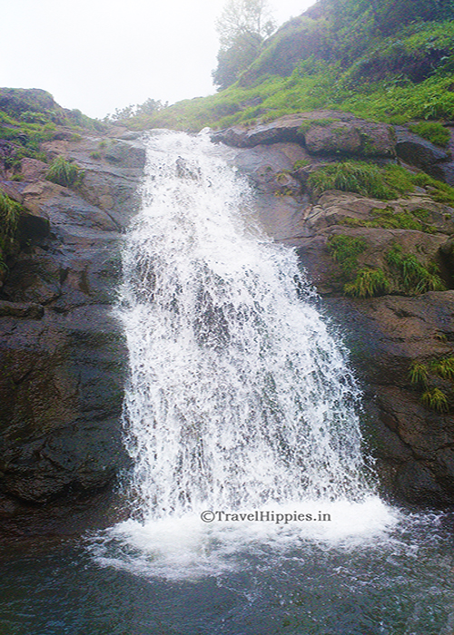
<svg viewBox="0 0 454 635">
<path fill-rule="evenodd" d="M 365 161 L 341 161 L 311 174 L 307 186 L 316 196 L 326 190 L 341 190 L 391 200 L 413 189 L 408 175 L 410 172 L 399 166 L 380 168 Z"/>
</svg>

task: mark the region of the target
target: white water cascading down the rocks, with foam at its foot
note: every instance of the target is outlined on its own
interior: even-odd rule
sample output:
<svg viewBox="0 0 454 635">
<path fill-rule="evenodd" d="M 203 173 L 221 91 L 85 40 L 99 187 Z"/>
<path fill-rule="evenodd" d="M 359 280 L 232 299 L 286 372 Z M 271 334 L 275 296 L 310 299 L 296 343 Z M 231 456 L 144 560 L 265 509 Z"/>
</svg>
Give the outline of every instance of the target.
<svg viewBox="0 0 454 635">
<path fill-rule="evenodd" d="M 113 555 L 105 537 L 94 548 L 104 564 L 169 575 L 169 562 L 188 570 L 197 553 L 200 569 L 201 535 L 213 544 L 217 531 L 203 526 L 203 510 L 335 504 L 324 530 L 334 537 L 393 521 L 366 483 L 360 393 L 341 345 L 313 308 L 294 251 L 259 230 L 252 190 L 226 154 L 204 134 L 150 135 L 118 308 L 130 354 L 124 421 L 136 520 L 116 525 L 107 542 L 151 553 L 153 566 L 135 551 Z M 320 536 L 321 524 L 305 531 Z M 252 534 L 270 539 L 257 523 L 245 531 L 219 529 L 220 551 L 232 551 L 233 534 L 235 549 Z"/>
</svg>

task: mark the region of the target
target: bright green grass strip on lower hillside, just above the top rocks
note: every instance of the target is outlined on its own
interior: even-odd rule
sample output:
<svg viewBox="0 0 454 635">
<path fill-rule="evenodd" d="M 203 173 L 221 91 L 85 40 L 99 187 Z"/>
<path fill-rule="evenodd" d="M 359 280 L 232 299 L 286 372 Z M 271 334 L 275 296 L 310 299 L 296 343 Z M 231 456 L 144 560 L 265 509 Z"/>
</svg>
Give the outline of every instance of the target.
<svg viewBox="0 0 454 635">
<path fill-rule="evenodd" d="M 251 85 L 240 81 L 209 97 L 175 103 L 125 123 L 135 130 L 165 127 L 198 132 L 205 126 L 252 125 L 316 109 L 352 112 L 389 123 L 452 120 L 454 61 L 452 69 L 444 58 L 434 62 L 429 76 L 420 81 L 400 68 L 402 55 L 411 65 L 412 60 L 424 63 L 427 55 L 437 52 L 448 59 L 449 51 L 454 51 L 454 23 L 411 24 L 391 37 L 371 39 L 367 53 L 350 64 L 341 58 L 314 59 L 310 54 L 301 58 L 289 76 L 263 73 Z M 370 64 L 388 70 L 371 79 Z M 272 64 L 268 68 L 272 73 Z"/>
</svg>

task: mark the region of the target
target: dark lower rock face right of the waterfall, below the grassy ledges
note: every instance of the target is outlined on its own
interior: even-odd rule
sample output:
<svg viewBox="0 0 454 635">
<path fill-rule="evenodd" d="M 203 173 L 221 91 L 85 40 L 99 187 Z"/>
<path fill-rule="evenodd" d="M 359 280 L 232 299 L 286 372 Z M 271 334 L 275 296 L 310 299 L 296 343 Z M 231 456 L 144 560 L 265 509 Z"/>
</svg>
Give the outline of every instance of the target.
<svg viewBox="0 0 454 635">
<path fill-rule="evenodd" d="M 454 417 L 420 402 L 410 364 L 454 352 L 454 291 L 418 298 L 326 298 L 341 323 L 360 377 L 366 437 L 385 493 L 400 501 L 443 507 L 454 501 Z M 449 381 L 439 380 L 449 392 Z"/>
</svg>

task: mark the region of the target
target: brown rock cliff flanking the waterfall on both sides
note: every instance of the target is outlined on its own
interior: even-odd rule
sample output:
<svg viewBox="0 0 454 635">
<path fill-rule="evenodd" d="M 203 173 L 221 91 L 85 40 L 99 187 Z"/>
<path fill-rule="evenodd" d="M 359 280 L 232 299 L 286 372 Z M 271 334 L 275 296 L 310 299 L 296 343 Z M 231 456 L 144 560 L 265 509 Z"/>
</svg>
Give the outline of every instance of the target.
<svg viewBox="0 0 454 635">
<path fill-rule="evenodd" d="M 432 181 L 393 198 L 311 186 L 312 175 L 343 160 L 381 171 L 400 161 L 450 182 L 449 151 L 335 111 L 212 138 L 235 149 L 264 228 L 298 250 L 321 310 L 350 347 L 383 491 L 452 504 L 454 210 Z M 40 151 L 77 165 L 82 178 L 72 188 L 49 181 L 48 164 L 31 157 L 0 166 L 0 190 L 22 206 L 0 276 L 0 488 L 25 503 L 94 493 L 127 465 L 127 353 L 113 307 L 145 162 L 140 135 L 124 129 L 74 138 L 59 125 Z"/>
</svg>

